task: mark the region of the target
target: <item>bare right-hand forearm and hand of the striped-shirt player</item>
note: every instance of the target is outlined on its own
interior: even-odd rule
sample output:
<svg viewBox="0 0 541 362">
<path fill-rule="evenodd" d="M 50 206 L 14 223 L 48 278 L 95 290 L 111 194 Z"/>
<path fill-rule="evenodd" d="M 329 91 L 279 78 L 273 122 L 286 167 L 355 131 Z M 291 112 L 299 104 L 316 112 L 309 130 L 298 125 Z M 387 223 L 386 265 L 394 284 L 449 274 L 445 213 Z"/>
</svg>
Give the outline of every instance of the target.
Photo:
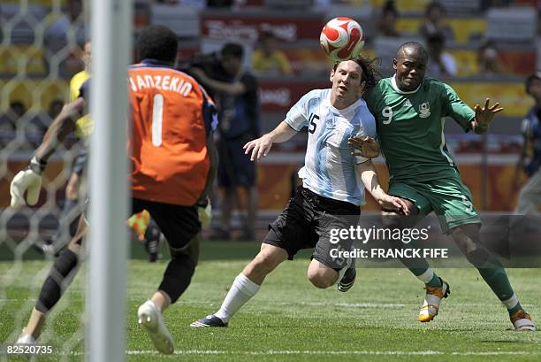
<svg viewBox="0 0 541 362">
<path fill-rule="evenodd" d="M 368 160 L 357 165 L 357 173 L 361 176 L 362 184 L 374 196 L 379 204 L 385 210 L 393 210 L 404 215 L 409 214 L 408 205 L 400 197 L 388 195 L 381 187 L 377 171 L 372 161 Z"/>
</svg>

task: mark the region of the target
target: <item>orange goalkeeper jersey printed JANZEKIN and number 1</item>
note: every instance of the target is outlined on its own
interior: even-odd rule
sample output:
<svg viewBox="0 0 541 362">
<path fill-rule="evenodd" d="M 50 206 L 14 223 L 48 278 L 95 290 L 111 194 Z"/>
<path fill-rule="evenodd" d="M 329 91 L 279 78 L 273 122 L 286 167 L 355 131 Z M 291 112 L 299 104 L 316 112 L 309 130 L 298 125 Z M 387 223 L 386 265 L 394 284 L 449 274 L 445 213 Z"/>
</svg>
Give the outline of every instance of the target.
<svg viewBox="0 0 541 362">
<path fill-rule="evenodd" d="M 217 126 L 214 104 L 186 73 L 152 60 L 128 70 L 133 197 L 189 206 L 210 169 L 207 136 Z"/>
</svg>

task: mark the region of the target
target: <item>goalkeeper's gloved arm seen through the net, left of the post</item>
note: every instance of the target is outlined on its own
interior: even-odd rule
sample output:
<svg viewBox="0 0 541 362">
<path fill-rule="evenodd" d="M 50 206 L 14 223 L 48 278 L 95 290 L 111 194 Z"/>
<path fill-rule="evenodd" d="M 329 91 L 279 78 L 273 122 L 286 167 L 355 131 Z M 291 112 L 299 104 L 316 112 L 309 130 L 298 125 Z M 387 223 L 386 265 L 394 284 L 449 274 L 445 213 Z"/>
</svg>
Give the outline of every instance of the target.
<svg viewBox="0 0 541 362">
<path fill-rule="evenodd" d="M 25 170 L 19 171 L 11 181 L 11 207 L 19 208 L 25 204 L 32 206 L 37 203 L 42 188 L 42 171 L 47 166 L 47 160 L 57 149 L 58 144 L 64 142 L 66 136 L 72 132 L 75 121 L 83 112 L 84 105 L 85 101 L 82 98 L 65 105 L 50 125 L 30 165 Z M 26 200 L 25 192 L 27 192 Z"/>
</svg>

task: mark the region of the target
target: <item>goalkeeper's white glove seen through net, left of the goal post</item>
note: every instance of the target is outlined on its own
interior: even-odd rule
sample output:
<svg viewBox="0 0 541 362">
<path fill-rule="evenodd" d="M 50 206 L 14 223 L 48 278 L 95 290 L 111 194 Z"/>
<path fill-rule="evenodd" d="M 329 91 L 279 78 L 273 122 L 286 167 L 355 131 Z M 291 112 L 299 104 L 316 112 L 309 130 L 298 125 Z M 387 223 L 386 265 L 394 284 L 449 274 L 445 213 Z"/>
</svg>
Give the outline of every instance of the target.
<svg viewBox="0 0 541 362">
<path fill-rule="evenodd" d="M 11 181 L 11 207 L 18 209 L 28 204 L 34 206 L 37 204 L 42 189 L 42 171 L 47 166 L 46 161 L 34 156 L 30 165 L 25 170 L 19 171 Z M 25 202 L 25 191 L 27 191 L 27 200 Z"/>
</svg>

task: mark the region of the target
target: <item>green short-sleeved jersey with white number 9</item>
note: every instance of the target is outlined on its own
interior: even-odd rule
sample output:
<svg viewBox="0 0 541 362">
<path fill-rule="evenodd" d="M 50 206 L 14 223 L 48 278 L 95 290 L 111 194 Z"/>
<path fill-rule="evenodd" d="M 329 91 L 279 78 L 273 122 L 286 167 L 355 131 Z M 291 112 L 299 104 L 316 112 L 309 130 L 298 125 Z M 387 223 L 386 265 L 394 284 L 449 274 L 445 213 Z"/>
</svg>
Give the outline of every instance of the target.
<svg viewBox="0 0 541 362">
<path fill-rule="evenodd" d="M 455 173 L 444 136 L 445 119 L 451 117 L 468 132 L 476 113 L 454 89 L 424 78 L 418 89 L 404 92 L 393 76 L 379 81 L 362 97 L 376 118 L 391 181 L 429 181 Z"/>
</svg>

